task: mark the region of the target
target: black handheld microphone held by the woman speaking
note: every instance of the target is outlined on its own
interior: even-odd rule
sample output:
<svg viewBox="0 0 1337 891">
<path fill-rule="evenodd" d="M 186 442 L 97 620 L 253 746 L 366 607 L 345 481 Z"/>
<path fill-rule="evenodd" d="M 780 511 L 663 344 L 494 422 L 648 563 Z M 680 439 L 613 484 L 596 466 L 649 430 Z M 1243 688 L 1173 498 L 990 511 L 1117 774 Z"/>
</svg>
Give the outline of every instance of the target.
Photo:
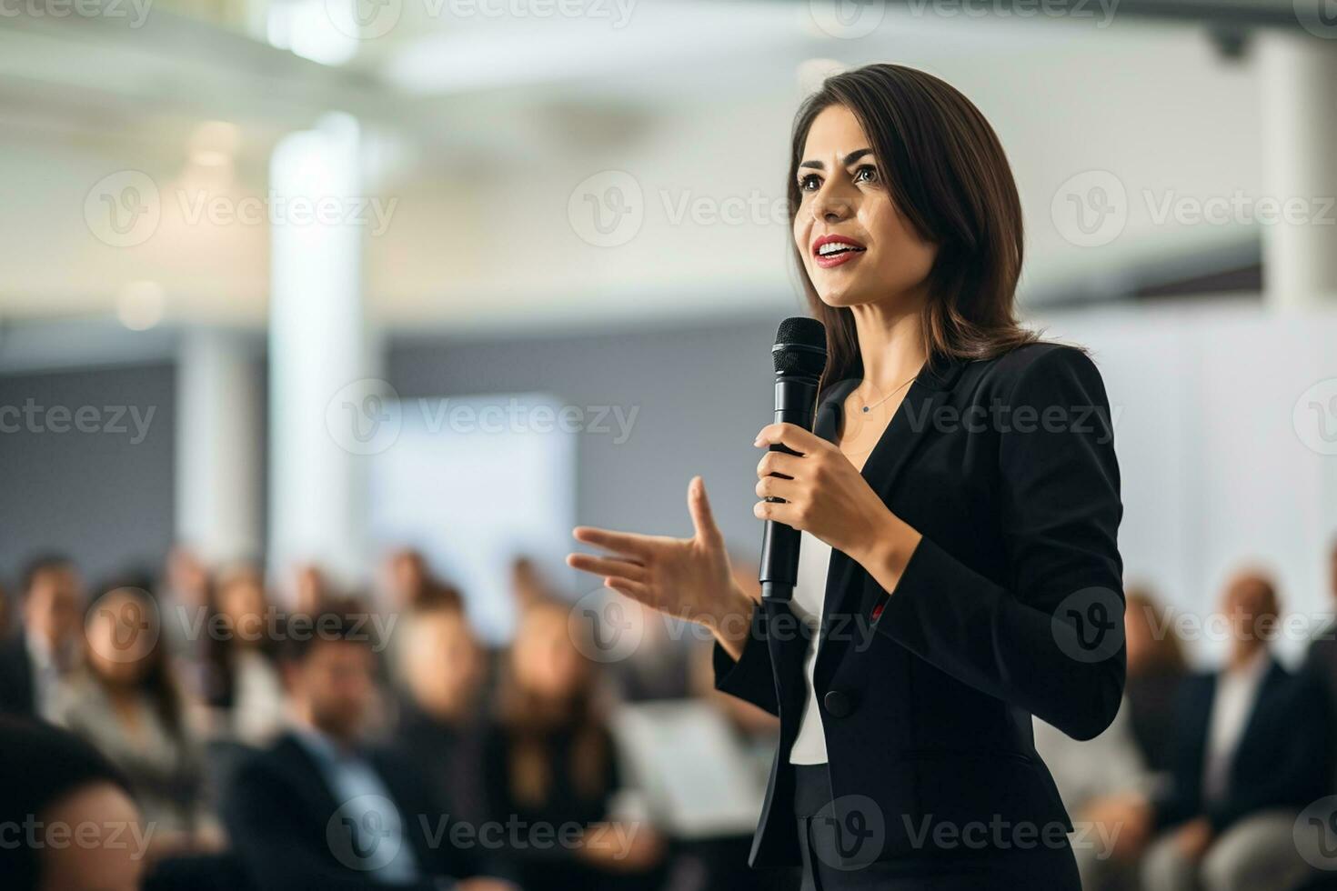
<svg viewBox="0 0 1337 891">
<path fill-rule="evenodd" d="M 817 411 L 817 385 L 826 367 L 826 327 L 804 315 L 787 318 L 779 323 L 770 355 L 775 361 L 775 423 L 793 423 L 812 430 Z M 778 443 L 770 446 L 770 450 L 797 454 Z M 761 542 L 762 600 L 793 598 L 794 584 L 798 581 L 798 544 L 797 529 L 774 520 L 766 521 Z"/>
</svg>

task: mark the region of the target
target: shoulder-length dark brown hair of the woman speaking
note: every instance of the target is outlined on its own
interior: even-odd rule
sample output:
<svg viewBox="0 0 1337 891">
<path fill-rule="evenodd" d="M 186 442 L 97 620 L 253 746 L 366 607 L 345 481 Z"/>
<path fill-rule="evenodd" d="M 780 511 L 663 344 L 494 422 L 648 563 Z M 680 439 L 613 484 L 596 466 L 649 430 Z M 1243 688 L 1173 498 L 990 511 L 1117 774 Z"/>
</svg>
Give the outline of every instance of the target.
<svg viewBox="0 0 1337 891">
<path fill-rule="evenodd" d="M 1016 319 L 1021 202 L 993 128 L 951 84 L 915 68 L 872 64 L 828 77 L 794 116 L 789 223 L 802 192 L 798 164 L 813 120 L 832 106 L 858 119 L 897 211 L 937 246 L 928 275 L 929 359 L 985 359 L 1039 339 Z M 824 383 L 862 377 L 854 315 L 821 301 L 794 244 L 814 318 L 826 326 Z"/>
</svg>

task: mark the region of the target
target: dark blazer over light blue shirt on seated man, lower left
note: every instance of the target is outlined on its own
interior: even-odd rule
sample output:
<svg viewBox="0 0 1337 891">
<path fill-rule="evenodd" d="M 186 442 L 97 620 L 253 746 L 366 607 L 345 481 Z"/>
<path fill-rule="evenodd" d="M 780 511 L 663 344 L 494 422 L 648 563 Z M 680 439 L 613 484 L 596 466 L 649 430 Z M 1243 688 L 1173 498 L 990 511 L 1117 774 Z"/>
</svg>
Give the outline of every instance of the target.
<svg viewBox="0 0 1337 891">
<path fill-rule="evenodd" d="M 370 760 L 400 811 L 404 840 L 413 846 L 422 874 L 412 888 L 439 888 L 432 876 L 472 875 L 473 851 L 451 846 L 455 815 L 440 808 L 422 779 L 400 760 L 374 752 Z M 219 810 L 238 859 L 262 891 L 386 887 L 336 856 L 326 831 L 338 807 L 320 764 L 287 733 L 237 768 Z M 452 822 L 433 839 L 428 832 L 437 835 L 445 816 Z"/>
</svg>

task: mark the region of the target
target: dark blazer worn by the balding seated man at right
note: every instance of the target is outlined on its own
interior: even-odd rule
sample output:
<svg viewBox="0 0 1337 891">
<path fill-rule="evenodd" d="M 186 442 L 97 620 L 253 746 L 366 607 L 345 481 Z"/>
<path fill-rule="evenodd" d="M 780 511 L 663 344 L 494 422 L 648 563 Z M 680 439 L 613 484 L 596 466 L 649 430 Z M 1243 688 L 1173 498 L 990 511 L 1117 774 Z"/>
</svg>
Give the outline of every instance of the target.
<svg viewBox="0 0 1337 891">
<path fill-rule="evenodd" d="M 1211 804 L 1202 797 L 1202 779 L 1219 673 L 1190 675 L 1183 680 L 1175 700 L 1179 727 L 1173 781 L 1157 801 L 1159 828 L 1206 816 L 1213 830 L 1221 832 L 1263 808 L 1301 811 L 1332 791 L 1326 693 L 1313 675 L 1292 675 L 1270 656 L 1269 661 L 1230 761 L 1226 793 Z"/>
</svg>

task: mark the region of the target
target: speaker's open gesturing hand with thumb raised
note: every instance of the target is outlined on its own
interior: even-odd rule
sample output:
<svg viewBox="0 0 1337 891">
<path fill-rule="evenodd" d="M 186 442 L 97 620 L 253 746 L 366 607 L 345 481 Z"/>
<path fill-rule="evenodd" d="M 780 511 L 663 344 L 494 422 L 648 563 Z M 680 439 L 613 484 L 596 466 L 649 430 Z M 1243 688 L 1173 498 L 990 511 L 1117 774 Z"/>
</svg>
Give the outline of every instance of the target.
<svg viewBox="0 0 1337 891">
<path fill-rule="evenodd" d="M 576 541 L 608 553 L 572 553 L 567 565 L 603 576 L 606 588 L 651 609 L 705 625 L 737 659 L 754 601 L 734 581 L 725 537 L 710 513 L 701 477 L 687 485 L 687 510 L 694 528 L 690 538 L 576 526 Z"/>
</svg>

